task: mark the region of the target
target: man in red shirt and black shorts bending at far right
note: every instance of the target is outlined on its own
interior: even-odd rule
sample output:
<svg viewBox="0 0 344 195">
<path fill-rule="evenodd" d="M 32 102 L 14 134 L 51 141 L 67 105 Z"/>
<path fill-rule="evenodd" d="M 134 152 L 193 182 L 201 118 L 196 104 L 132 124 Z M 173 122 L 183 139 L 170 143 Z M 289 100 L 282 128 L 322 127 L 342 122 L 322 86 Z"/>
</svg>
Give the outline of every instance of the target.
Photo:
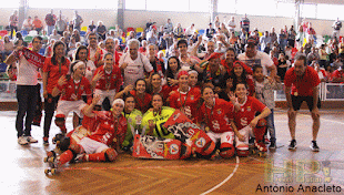
<svg viewBox="0 0 344 195">
<path fill-rule="evenodd" d="M 317 72 L 306 65 L 306 57 L 300 54 L 295 58 L 294 66 L 286 71 L 284 78 L 285 95 L 289 106 L 289 127 L 292 136 L 289 150 L 296 148 L 295 126 L 296 113 L 303 101 L 308 105 L 313 119 L 313 141 L 311 148 L 318 152 L 316 136 L 320 129 L 320 101 L 318 101 L 318 84 L 321 83 Z"/>
</svg>

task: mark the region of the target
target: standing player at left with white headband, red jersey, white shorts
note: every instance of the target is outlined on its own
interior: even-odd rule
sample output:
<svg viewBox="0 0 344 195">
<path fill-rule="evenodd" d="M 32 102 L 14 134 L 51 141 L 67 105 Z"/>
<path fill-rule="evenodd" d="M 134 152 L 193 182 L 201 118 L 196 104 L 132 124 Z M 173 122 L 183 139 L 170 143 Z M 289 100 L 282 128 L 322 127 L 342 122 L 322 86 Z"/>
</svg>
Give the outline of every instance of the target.
<svg viewBox="0 0 344 195">
<path fill-rule="evenodd" d="M 65 116 L 73 111 L 82 117 L 81 110 L 87 103 L 82 100 L 81 95 L 85 93 L 88 99 L 90 99 L 92 94 L 90 82 L 84 78 L 85 64 L 82 61 L 77 60 L 71 64 L 70 72 L 71 78 L 67 79 L 62 75 L 51 94 L 54 98 L 62 92 L 58 102 L 55 124 L 60 127 L 63 134 L 67 133 Z"/>
</svg>

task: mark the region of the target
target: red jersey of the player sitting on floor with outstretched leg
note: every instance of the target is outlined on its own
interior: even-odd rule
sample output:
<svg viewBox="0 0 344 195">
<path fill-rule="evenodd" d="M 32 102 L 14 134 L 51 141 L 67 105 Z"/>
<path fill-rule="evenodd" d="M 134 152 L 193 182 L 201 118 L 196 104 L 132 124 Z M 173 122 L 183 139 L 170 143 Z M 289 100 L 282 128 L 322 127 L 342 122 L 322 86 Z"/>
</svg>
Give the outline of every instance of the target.
<svg viewBox="0 0 344 195">
<path fill-rule="evenodd" d="M 115 142 L 122 144 L 127 133 L 127 119 L 121 114 L 120 119 L 115 120 L 109 111 L 93 111 L 93 113 L 94 117 L 84 116 L 82 121 L 82 126 L 91 129 L 89 138 L 111 145 L 113 138 L 119 135 Z"/>
</svg>

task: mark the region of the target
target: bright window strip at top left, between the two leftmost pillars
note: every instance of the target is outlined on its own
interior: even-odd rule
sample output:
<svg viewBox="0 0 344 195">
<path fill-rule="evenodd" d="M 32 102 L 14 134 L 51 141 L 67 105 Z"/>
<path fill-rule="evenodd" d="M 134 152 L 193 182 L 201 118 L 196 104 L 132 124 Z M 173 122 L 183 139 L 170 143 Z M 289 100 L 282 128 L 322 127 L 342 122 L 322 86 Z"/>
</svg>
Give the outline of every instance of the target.
<svg viewBox="0 0 344 195">
<path fill-rule="evenodd" d="M 30 8 L 53 8 L 53 9 L 117 9 L 118 0 L 29 0 Z"/>
</svg>

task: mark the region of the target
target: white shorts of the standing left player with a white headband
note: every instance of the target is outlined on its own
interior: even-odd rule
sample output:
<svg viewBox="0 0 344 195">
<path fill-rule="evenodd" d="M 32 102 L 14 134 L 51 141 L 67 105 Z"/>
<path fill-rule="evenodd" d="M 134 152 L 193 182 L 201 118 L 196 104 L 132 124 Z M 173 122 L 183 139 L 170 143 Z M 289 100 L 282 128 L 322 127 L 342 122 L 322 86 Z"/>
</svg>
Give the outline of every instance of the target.
<svg viewBox="0 0 344 195">
<path fill-rule="evenodd" d="M 63 114 L 65 117 L 70 112 L 75 112 L 80 117 L 83 117 L 81 113 L 82 109 L 87 105 L 83 100 L 78 101 L 65 101 L 60 100 L 58 102 L 57 114 Z"/>
</svg>

